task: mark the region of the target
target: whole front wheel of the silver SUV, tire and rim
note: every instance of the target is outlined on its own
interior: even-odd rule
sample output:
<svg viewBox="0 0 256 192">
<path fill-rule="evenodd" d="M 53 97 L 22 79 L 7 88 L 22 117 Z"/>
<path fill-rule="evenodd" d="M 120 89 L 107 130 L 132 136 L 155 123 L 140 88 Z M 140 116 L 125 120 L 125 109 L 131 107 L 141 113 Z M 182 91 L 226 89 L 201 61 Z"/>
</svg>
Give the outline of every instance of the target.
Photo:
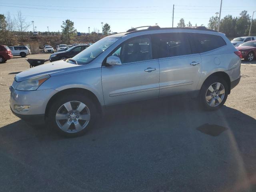
<svg viewBox="0 0 256 192">
<path fill-rule="evenodd" d="M 58 98 L 49 111 L 50 125 L 67 137 L 85 134 L 94 124 L 97 114 L 92 100 L 78 94 Z"/>
</svg>

